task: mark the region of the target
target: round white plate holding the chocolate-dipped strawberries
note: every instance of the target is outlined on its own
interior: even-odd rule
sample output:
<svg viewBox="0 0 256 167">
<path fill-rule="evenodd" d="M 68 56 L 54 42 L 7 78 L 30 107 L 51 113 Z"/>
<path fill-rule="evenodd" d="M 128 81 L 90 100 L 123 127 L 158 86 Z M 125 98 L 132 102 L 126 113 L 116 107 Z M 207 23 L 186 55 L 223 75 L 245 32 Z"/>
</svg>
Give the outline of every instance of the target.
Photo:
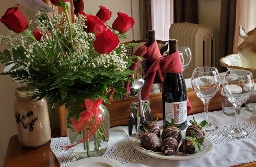
<svg viewBox="0 0 256 167">
<path fill-rule="evenodd" d="M 213 143 L 209 139 L 205 138 L 204 143 L 202 145 L 202 149 L 200 152 L 197 152 L 195 154 L 183 154 L 176 152 L 173 156 L 166 156 L 162 152 L 153 152 L 150 150 L 146 150 L 141 147 L 141 140 L 139 139 L 140 136 L 136 135 L 132 138 L 132 146 L 138 150 L 139 152 L 142 152 L 148 156 L 160 158 L 160 159 L 166 159 L 166 160 L 190 160 L 194 158 L 203 157 L 206 154 L 210 153 L 213 150 Z"/>
</svg>

